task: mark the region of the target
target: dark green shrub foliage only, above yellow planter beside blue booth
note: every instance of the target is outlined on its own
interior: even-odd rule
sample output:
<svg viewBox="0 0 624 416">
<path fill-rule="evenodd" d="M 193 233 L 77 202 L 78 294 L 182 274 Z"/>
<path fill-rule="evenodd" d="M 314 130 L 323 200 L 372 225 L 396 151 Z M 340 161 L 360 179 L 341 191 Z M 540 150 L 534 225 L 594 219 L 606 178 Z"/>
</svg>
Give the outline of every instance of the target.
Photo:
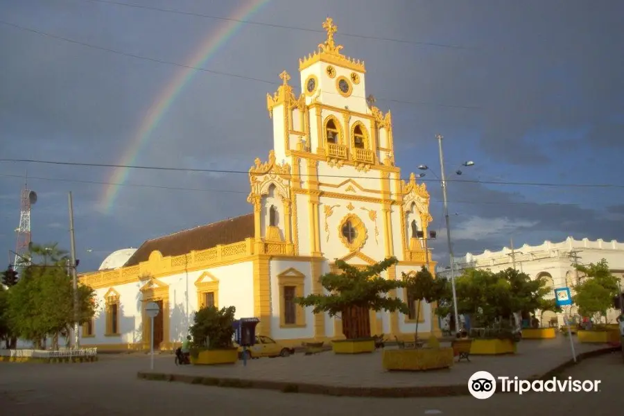
<svg viewBox="0 0 624 416">
<path fill-rule="evenodd" d="M 189 329 L 193 337 L 194 347 L 232 348 L 235 314 L 235 306 L 221 309 L 216 309 L 215 306 L 204 306 L 197 311 L 193 315 L 193 325 Z"/>
</svg>

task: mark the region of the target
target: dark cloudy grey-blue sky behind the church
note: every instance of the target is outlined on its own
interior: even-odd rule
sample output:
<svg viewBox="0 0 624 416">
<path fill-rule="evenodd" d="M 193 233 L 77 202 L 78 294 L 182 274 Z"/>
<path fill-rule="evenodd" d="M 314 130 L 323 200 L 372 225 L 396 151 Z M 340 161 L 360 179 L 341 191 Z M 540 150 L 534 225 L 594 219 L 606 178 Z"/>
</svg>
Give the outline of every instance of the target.
<svg viewBox="0 0 624 416">
<path fill-rule="evenodd" d="M 0 0 L 1 159 L 119 163 L 184 70 L 162 61 L 188 64 L 227 24 L 199 15 L 229 17 L 250 3 L 118 1 L 184 13 Z M 265 25 L 242 24 L 202 64 L 254 80 L 196 71 L 133 163 L 246 171 L 255 157 L 266 159 L 266 93 L 284 69 L 298 79 L 298 60 L 324 40 L 314 31 L 327 15 L 345 54 L 365 60 L 367 94 L 394 114 L 405 177 L 419 164 L 440 174 L 439 132 L 450 177 L 469 159 L 476 165 L 464 180 L 624 185 L 621 0 L 270 0 L 247 18 Z M 33 241 L 69 247 L 73 191 L 82 270 L 116 249 L 251 209 L 247 175 L 135 170 L 127 185 L 156 187 L 123 186 L 107 211 L 98 200 L 108 186 L 87 182 L 110 182 L 112 168 L 0 162 L 0 253 L 15 250 L 26 169 L 40 197 Z M 443 236 L 440 187 L 428 186 Z M 567 235 L 624 240 L 623 191 L 452 182 L 453 246 L 462 254 L 498 250 L 510 237 L 516 245 Z M 443 261 L 445 243 L 433 245 Z"/>
</svg>

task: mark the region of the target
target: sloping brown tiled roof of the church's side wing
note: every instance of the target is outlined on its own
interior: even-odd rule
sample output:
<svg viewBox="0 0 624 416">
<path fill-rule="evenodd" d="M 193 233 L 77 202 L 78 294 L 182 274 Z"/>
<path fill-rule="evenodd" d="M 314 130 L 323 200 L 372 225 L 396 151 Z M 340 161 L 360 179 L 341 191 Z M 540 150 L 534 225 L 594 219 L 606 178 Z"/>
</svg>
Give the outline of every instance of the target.
<svg viewBox="0 0 624 416">
<path fill-rule="evenodd" d="M 193 250 L 207 250 L 218 244 L 232 244 L 254 236 L 254 214 L 228 218 L 217 223 L 200 225 L 183 231 L 148 240 L 132 254 L 124 267 L 137 266 L 148 261 L 150 254 L 158 250 L 163 257 L 180 256 Z"/>
</svg>

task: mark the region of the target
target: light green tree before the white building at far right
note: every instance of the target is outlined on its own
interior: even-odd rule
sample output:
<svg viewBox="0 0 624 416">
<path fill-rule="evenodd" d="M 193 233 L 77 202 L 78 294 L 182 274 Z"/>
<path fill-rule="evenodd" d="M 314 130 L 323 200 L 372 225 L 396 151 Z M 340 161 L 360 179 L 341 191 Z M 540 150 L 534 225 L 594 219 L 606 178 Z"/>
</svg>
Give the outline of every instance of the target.
<svg viewBox="0 0 624 416">
<path fill-rule="evenodd" d="M 613 298 L 618 295 L 618 278 L 609 270 L 607 260 L 575 268 L 584 274 L 574 287 L 576 294 L 573 296 L 580 315 L 593 318 L 607 315 Z"/>
</svg>

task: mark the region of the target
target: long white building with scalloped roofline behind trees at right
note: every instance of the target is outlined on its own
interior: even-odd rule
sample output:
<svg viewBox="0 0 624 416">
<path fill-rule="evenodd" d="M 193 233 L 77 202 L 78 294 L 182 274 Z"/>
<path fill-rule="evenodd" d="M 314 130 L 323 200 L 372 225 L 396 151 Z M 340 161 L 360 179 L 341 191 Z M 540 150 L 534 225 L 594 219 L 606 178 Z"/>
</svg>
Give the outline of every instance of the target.
<svg viewBox="0 0 624 416">
<path fill-rule="evenodd" d="M 568 237 L 561 243 L 551 243 L 544 241 L 540 245 L 524 244 L 519 248 L 504 247 L 503 250 L 491 252 L 485 250 L 482 254 L 467 253 L 462 257 L 455 257 L 454 263 L 456 275 L 460 275 L 462 270 L 469 268 L 489 269 L 492 272 L 499 272 L 507 268 L 516 268 L 532 278 L 546 277 L 548 286 L 555 288 L 569 287 L 573 291 L 573 286 L 578 281 L 578 275 L 574 264 L 587 265 L 598 263 L 606 259 L 612 273 L 621 281 L 624 289 L 624 243 L 617 241 L 589 241 L 589 239 L 575 240 Z M 438 275 L 448 277 L 449 268 L 438 270 Z M 554 292 L 550 296 L 554 296 Z M 576 316 L 578 309 L 575 306 L 564 308 L 564 313 L 555 314 L 545 312 L 542 315 L 541 324 L 548 326 L 551 319 L 558 318 L 559 324 L 564 324 L 564 316 Z M 609 311 L 607 322 L 615 323 L 619 311 Z"/>
</svg>

